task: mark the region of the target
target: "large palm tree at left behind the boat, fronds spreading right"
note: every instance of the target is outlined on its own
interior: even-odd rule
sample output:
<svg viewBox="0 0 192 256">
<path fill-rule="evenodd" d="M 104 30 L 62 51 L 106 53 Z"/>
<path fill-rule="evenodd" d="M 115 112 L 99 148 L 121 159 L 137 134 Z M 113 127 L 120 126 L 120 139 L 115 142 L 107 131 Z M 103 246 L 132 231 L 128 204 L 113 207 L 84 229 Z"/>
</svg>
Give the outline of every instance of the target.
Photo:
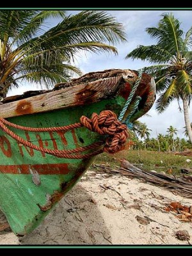
<svg viewBox="0 0 192 256">
<path fill-rule="evenodd" d="M 61 22 L 44 31 L 47 19 Z M 65 82 L 80 70 L 70 61 L 82 50 L 115 52 L 108 45 L 125 41 L 122 24 L 106 12 L 0 10 L 0 93 L 4 96 L 19 82 L 47 86 Z"/>
</svg>

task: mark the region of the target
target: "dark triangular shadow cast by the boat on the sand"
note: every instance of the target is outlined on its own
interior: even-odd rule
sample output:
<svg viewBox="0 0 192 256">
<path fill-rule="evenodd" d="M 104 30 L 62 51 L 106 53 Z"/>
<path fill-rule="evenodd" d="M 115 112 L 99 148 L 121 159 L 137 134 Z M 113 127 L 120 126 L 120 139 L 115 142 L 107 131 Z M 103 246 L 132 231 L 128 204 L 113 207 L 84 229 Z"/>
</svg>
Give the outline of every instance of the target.
<svg viewBox="0 0 192 256">
<path fill-rule="evenodd" d="M 111 244 L 95 200 L 77 184 L 20 244 Z"/>
</svg>

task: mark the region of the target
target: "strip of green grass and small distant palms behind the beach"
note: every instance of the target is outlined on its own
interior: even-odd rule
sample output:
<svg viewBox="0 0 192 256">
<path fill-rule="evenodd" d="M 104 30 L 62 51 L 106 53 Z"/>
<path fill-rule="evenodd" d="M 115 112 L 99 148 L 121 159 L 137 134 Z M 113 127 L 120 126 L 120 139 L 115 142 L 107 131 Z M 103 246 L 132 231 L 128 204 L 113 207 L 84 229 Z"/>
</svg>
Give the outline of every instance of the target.
<svg viewBox="0 0 192 256">
<path fill-rule="evenodd" d="M 184 138 L 174 138 L 177 135 L 177 129 L 172 125 L 168 127 L 167 134 L 157 134 L 157 138 L 147 136 L 139 136 L 138 130 L 145 127 L 149 131 L 146 124 L 142 124 L 138 120 L 134 122 L 134 129 L 129 147 L 116 154 L 101 154 L 97 156 L 96 163 L 105 163 L 113 167 L 120 165 L 121 159 L 127 159 L 132 164 L 136 164 L 143 170 L 156 170 L 156 172 L 167 172 L 172 169 L 172 174 L 179 174 L 180 168 L 186 166 L 192 168 L 192 157 L 177 156 L 172 154 L 173 151 L 182 152 L 186 149 L 192 149 L 191 143 Z M 191 163 L 186 163 L 186 159 L 191 159 Z"/>
</svg>

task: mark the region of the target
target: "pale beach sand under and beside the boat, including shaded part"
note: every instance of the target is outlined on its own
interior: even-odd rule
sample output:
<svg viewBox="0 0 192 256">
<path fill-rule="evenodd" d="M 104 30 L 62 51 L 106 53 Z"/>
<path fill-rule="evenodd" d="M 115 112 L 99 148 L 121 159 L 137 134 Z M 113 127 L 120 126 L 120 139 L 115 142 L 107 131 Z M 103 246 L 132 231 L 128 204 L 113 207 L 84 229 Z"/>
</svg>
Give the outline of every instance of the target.
<svg viewBox="0 0 192 256">
<path fill-rule="evenodd" d="M 192 205 L 138 179 L 88 171 L 31 234 L 3 231 L 0 244 L 192 244 L 192 222 L 164 211 L 171 202 Z M 178 230 L 190 240 L 177 239 Z"/>
</svg>

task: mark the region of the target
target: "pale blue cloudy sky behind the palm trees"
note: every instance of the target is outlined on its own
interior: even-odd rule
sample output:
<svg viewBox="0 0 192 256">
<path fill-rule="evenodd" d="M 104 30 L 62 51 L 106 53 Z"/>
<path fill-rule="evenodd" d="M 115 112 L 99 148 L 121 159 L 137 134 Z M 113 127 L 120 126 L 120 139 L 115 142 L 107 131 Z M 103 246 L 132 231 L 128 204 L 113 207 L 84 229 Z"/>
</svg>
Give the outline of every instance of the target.
<svg viewBox="0 0 192 256">
<path fill-rule="evenodd" d="M 140 61 L 131 59 L 125 60 L 125 56 L 128 52 L 132 51 L 137 45 L 150 45 L 155 44 L 155 41 L 145 32 L 148 27 L 157 26 L 157 23 L 161 19 L 161 15 L 170 11 L 153 11 L 153 10 L 125 10 L 125 11 L 108 11 L 111 15 L 116 17 L 119 22 L 122 22 L 127 33 L 127 42 L 115 45 L 118 50 L 118 56 L 114 54 L 93 54 L 83 52 L 76 57 L 75 64 L 79 67 L 84 74 L 92 71 L 99 71 L 109 68 L 122 68 L 122 69 L 134 69 L 145 67 L 150 65 L 147 61 Z M 72 14 L 77 11 L 70 12 Z M 192 26 L 192 10 L 180 10 L 172 11 L 177 19 L 181 22 L 181 28 L 184 31 Z M 55 26 L 60 20 L 50 20 L 47 28 Z M 25 92 L 26 90 L 36 90 L 31 86 L 21 86 L 17 90 L 12 90 L 9 95 L 15 95 Z M 181 105 L 182 106 L 182 105 Z M 189 109 L 190 120 L 192 122 L 192 107 Z M 140 118 L 141 122 L 145 122 L 148 129 L 151 129 L 151 137 L 156 137 L 157 134 L 166 134 L 166 130 L 170 125 L 177 128 L 178 136 L 184 138 L 184 115 L 179 113 L 177 101 L 172 102 L 166 111 L 162 114 L 158 114 L 155 109 L 155 104 L 148 111 L 148 115 Z"/>
</svg>

